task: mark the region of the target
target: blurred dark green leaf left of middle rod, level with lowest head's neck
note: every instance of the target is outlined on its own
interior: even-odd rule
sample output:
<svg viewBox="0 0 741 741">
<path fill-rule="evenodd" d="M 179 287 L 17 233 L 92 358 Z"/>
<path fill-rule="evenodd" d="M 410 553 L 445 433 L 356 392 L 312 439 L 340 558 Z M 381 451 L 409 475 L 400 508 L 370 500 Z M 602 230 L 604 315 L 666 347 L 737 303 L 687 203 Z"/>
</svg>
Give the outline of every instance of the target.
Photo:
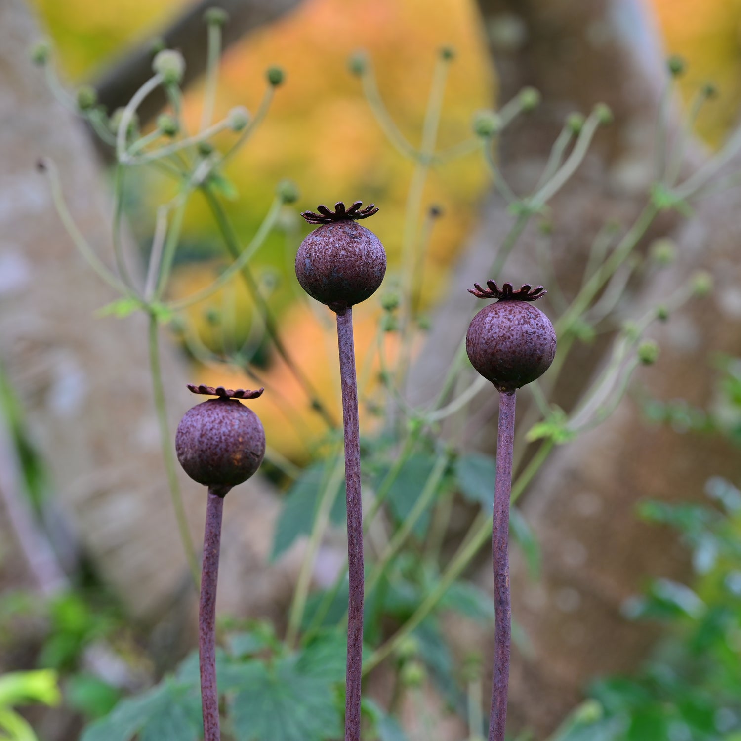
<svg viewBox="0 0 741 741">
<path fill-rule="evenodd" d="M 309 466 L 305 469 L 303 476 L 288 490 L 273 536 L 271 560 L 274 561 L 288 551 L 299 536 L 310 534 L 323 487 L 327 485 L 327 468 L 332 464 L 333 460 L 330 459 Z M 343 482 L 330 512 L 330 519 L 335 525 L 342 525 L 345 522 L 345 513 L 345 484 Z"/>
</svg>

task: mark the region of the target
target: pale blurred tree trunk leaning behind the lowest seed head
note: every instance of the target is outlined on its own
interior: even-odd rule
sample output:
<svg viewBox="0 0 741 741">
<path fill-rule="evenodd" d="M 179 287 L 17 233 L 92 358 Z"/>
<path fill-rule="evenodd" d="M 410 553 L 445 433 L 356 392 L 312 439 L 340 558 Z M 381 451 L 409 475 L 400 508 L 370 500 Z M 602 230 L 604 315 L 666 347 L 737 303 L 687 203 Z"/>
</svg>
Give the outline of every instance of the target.
<svg viewBox="0 0 741 741">
<path fill-rule="evenodd" d="M 146 323 L 96 318 L 116 295 L 76 253 L 36 171 L 41 156 L 56 162 L 73 218 L 107 261 L 102 173 L 84 127 L 28 60 L 38 36 L 21 0 L 0 4 L 0 357 L 67 527 L 133 618 L 164 620 L 156 634 L 163 648 L 195 625 L 196 600 L 167 493 Z M 161 339 L 174 430 L 193 398 L 185 365 Z M 199 542 L 205 490 L 184 475 L 181 482 Z M 259 478 L 230 496 L 220 608 L 279 617 L 293 565 L 265 566 L 278 506 Z"/>
</svg>

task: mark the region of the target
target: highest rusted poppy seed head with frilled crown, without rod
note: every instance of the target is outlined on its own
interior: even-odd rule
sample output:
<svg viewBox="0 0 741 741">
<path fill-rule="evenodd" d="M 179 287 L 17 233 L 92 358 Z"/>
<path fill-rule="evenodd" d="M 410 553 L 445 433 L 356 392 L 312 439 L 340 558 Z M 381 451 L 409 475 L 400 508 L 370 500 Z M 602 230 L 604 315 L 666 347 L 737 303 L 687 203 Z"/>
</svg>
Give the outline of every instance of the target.
<svg viewBox="0 0 741 741">
<path fill-rule="evenodd" d="M 301 243 L 296 254 L 296 278 L 313 299 L 337 313 L 373 296 L 386 273 L 386 253 L 379 238 L 359 225 L 378 209 L 362 201 L 349 208 L 342 202 L 335 210 L 317 207 L 305 211 L 309 224 L 318 224 Z"/>
</svg>

